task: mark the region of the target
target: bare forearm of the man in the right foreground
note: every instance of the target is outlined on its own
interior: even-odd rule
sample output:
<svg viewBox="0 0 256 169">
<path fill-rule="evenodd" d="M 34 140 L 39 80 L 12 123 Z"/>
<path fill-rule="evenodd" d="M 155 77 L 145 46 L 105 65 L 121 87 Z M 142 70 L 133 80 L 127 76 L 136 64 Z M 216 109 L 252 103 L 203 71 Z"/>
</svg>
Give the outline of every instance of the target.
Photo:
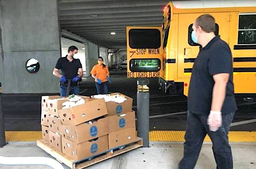
<svg viewBox="0 0 256 169">
<path fill-rule="evenodd" d="M 226 85 L 225 82 L 215 82 L 212 91 L 212 111 L 221 112 L 226 97 Z"/>
</svg>

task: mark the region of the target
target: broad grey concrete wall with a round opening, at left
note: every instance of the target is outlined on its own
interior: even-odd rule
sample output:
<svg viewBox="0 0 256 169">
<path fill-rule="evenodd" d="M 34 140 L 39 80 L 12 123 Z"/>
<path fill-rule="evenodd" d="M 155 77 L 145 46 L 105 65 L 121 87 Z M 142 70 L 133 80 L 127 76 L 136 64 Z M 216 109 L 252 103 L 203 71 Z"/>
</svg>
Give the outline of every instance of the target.
<svg viewBox="0 0 256 169">
<path fill-rule="evenodd" d="M 52 72 L 60 57 L 57 0 L 1 0 L 0 79 L 2 92 L 57 93 L 59 79 Z M 31 74 L 28 59 L 39 61 Z"/>
</svg>

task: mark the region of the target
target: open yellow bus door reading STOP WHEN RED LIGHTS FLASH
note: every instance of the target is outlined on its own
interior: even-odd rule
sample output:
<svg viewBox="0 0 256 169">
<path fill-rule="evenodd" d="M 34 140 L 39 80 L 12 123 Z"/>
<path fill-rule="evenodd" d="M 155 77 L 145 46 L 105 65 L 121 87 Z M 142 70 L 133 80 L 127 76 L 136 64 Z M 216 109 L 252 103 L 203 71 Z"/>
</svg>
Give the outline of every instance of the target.
<svg viewBox="0 0 256 169">
<path fill-rule="evenodd" d="M 126 27 L 127 78 L 162 76 L 162 27 Z"/>
</svg>

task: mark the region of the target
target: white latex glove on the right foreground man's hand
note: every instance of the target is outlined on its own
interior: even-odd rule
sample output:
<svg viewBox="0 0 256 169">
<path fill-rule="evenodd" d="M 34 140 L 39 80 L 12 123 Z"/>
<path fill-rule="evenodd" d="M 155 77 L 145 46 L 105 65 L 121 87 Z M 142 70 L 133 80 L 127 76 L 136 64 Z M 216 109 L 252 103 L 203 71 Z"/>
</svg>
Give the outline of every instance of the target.
<svg viewBox="0 0 256 169">
<path fill-rule="evenodd" d="M 222 125 L 222 113 L 210 111 L 207 119 L 207 124 L 209 125 L 210 131 L 217 131 Z"/>
</svg>

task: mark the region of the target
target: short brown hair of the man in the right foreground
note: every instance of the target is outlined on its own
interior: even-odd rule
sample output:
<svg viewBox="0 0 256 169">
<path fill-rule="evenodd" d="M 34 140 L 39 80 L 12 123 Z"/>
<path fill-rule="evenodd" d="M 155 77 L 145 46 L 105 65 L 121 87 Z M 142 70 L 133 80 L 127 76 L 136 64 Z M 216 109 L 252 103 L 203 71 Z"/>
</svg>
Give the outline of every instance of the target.
<svg viewBox="0 0 256 169">
<path fill-rule="evenodd" d="M 215 32 L 215 19 L 209 14 L 201 15 L 196 19 L 195 26 L 200 26 L 206 33 Z"/>
</svg>

